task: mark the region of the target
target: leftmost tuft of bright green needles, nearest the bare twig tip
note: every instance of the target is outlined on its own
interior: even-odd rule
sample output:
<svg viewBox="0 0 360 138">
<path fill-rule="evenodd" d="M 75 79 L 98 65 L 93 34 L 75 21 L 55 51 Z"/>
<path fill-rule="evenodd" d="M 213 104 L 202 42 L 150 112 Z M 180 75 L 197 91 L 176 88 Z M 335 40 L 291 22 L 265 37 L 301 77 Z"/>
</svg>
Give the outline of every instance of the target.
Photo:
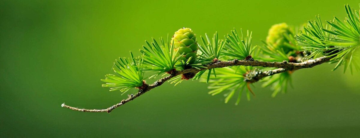
<svg viewBox="0 0 360 138">
<path fill-rule="evenodd" d="M 126 91 L 140 87 L 143 85 L 143 69 L 141 68 L 142 60 L 138 64 L 131 54 L 131 58 L 119 58 L 114 63 L 113 71 L 116 75 L 108 74 L 105 77 L 106 84 L 103 87 L 110 87 L 110 91 L 120 90 L 125 93 Z"/>
</svg>

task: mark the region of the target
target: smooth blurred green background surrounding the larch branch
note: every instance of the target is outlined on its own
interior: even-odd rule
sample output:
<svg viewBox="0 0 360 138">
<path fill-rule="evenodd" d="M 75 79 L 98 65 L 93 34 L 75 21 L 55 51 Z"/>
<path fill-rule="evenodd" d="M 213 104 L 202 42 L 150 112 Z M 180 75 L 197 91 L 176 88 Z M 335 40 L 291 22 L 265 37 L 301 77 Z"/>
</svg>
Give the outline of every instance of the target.
<svg viewBox="0 0 360 138">
<path fill-rule="evenodd" d="M 256 97 L 238 106 L 184 81 L 111 114 L 60 107 L 102 109 L 126 98 L 100 79 L 151 37 L 182 27 L 222 36 L 235 27 L 261 44 L 276 23 L 344 19 L 347 3 L 359 9 L 358 0 L 1 0 L 0 137 L 360 137 L 359 72 L 328 64 L 296 71 L 294 89 L 275 98 L 257 83 Z"/>
</svg>

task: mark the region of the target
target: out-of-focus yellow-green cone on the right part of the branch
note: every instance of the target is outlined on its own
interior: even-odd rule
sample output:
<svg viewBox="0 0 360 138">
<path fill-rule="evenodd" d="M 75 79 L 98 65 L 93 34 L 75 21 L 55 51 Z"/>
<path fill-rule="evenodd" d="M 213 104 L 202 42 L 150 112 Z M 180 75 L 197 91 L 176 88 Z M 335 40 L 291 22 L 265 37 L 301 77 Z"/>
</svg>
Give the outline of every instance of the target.
<svg viewBox="0 0 360 138">
<path fill-rule="evenodd" d="M 284 43 L 286 43 L 284 34 L 289 33 L 291 33 L 290 28 L 286 23 L 275 24 L 269 29 L 266 42 L 273 45 L 275 48 L 284 48 L 284 51 L 287 51 L 284 46 Z"/>
</svg>

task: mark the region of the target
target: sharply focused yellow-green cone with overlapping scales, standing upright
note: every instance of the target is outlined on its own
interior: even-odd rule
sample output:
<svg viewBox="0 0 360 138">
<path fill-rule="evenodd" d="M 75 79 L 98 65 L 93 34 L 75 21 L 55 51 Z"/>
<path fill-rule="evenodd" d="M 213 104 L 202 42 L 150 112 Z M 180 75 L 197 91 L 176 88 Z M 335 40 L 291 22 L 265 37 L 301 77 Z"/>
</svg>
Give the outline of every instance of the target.
<svg viewBox="0 0 360 138">
<path fill-rule="evenodd" d="M 196 36 L 190 28 L 181 28 L 177 30 L 174 36 L 171 38 L 171 42 L 174 41 L 174 50 L 177 51 L 176 56 L 180 56 L 180 60 L 186 62 L 190 57 L 194 60 L 196 58 L 196 52 L 198 50 L 198 44 L 196 43 Z"/>
</svg>

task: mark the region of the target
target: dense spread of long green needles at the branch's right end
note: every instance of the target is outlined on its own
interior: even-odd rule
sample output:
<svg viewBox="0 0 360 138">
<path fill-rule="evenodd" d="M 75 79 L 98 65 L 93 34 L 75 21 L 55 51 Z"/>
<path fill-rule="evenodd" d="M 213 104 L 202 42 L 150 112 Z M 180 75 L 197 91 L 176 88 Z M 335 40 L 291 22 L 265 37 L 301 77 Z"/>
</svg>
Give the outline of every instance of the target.
<svg viewBox="0 0 360 138">
<path fill-rule="evenodd" d="M 341 21 L 337 17 L 333 21 L 328 21 L 331 27 L 323 27 L 320 18 L 315 22 L 309 22 L 311 26 L 305 28 L 306 33 L 298 36 L 304 48 L 310 49 L 311 56 L 322 54 L 332 57 L 333 62 L 337 62 L 334 70 L 344 65 L 344 72 L 353 67 L 360 70 L 359 67 L 359 47 L 360 47 L 360 19 L 359 12 L 345 5 L 347 18 Z M 356 60 L 355 60 L 356 59 Z"/>
</svg>

